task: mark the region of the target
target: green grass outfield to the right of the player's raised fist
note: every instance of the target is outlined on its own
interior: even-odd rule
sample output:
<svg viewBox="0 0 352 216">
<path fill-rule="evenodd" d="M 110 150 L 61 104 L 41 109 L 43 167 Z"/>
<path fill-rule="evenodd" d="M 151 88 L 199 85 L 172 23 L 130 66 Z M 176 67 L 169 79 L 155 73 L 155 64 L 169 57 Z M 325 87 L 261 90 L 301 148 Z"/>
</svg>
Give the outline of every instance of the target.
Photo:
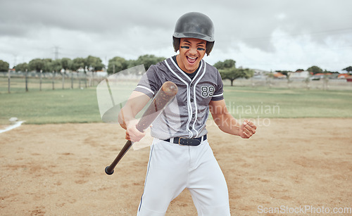
<svg viewBox="0 0 352 216">
<path fill-rule="evenodd" d="M 241 117 L 352 117 L 352 91 L 225 87 L 227 108 Z"/>
</svg>

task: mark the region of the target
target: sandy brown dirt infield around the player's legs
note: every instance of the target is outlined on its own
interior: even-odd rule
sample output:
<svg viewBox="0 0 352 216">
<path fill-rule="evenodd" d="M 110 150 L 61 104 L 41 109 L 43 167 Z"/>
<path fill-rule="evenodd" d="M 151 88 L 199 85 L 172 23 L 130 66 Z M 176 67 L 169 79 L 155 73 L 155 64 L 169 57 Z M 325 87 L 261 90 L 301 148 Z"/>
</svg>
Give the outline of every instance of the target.
<svg viewBox="0 0 352 216">
<path fill-rule="evenodd" d="M 265 125 L 249 140 L 208 127 L 232 215 L 351 207 L 352 119 Z M 113 175 L 104 172 L 123 134 L 103 123 L 22 125 L 0 134 L 0 215 L 136 215 L 149 149 L 129 151 Z M 167 215 L 196 215 L 187 190 Z"/>
</svg>

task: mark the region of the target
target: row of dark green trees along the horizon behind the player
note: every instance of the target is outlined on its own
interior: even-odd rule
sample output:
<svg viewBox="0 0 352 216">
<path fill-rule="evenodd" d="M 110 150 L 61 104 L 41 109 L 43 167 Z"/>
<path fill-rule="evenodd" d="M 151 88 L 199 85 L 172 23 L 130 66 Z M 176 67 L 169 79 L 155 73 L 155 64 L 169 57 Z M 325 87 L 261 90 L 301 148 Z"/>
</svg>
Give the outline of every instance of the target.
<svg viewBox="0 0 352 216">
<path fill-rule="evenodd" d="M 159 63 L 163 61 L 165 58 L 164 57 L 158 57 L 154 55 L 144 55 L 144 56 L 139 56 L 136 60 L 126 60 L 125 58 L 116 56 L 114 58 L 111 58 L 108 61 L 108 66 L 106 68 L 106 65 L 104 65 L 101 61 L 101 58 L 95 57 L 95 56 L 87 56 L 87 58 L 61 58 L 61 59 L 55 59 L 52 60 L 51 58 L 35 58 L 31 60 L 29 63 L 19 63 L 18 65 L 15 65 L 13 69 L 16 71 L 37 71 L 40 72 L 41 70 L 43 72 L 60 72 L 62 69 L 63 70 L 72 70 L 72 71 L 77 71 L 79 68 L 84 68 L 86 70 L 84 71 L 92 71 L 96 72 L 99 70 L 106 69 L 108 74 L 113 74 L 116 72 L 120 72 L 122 70 L 125 70 L 127 68 L 132 68 L 136 65 L 144 65 L 145 69 L 148 70 L 148 68 L 151 65 L 155 65 L 156 63 Z M 231 85 L 233 85 L 234 80 L 238 78 L 250 78 L 253 77 L 254 71 L 249 69 L 249 68 L 236 68 L 236 61 L 232 59 L 227 59 L 225 61 L 218 61 L 217 63 L 214 64 L 215 68 L 217 68 L 220 72 L 220 75 L 223 80 L 230 80 Z M 0 71 L 7 71 L 9 67 L 9 64 L 6 63 L 5 61 L 0 60 Z M 298 70 L 303 70 L 303 69 L 298 69 Z M 296 71 L 298 71 L 296 70 Z M 331 72 L 327 70 L 322 70 L 318 66 L 312 66 L 307 69 L 309 72 L 314 74 L 317 73 L 337 73 L 337 72 Z M 349 66 L 347 68 L 344 68 L 343 70 L 346 70 L 346 72 L 351 73 L 352 72 L 352 66 Z M 277 70 L 277 72 L 282 72 L 282 74 L 288 74 L 290 71 L 287 70 Z"/>
</svg>

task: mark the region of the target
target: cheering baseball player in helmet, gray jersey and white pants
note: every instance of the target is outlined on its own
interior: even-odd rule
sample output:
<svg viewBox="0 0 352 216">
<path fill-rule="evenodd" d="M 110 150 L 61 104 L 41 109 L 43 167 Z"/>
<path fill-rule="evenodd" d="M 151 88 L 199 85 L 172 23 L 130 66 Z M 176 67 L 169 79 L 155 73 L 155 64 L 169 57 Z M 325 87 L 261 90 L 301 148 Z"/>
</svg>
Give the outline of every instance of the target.
<svg viewBox="0 0 352 216">
<path fill-rule="evenodd" d="M 230 215 L 227 184 L 208 144 L 206 120 L 210 111 L 223 132 L 244 139 L 256 133 L 256 126 L 248 121 L 241 124 L 227 111 L 220 74 L 203 60 L 214 42 L 208 16 L 182 15 L 173 34 L 179 53 L 151 65 L 120 112 L 126 139 L 139 141 L 145 133 L 136 128 L 134 117 L 164 82 L 178 87 L 175 99 L 151 127 L 154 139 L 137 215 L 165 215 L 170 202 L 186 188 L 198 215 Z"/>
</svg>

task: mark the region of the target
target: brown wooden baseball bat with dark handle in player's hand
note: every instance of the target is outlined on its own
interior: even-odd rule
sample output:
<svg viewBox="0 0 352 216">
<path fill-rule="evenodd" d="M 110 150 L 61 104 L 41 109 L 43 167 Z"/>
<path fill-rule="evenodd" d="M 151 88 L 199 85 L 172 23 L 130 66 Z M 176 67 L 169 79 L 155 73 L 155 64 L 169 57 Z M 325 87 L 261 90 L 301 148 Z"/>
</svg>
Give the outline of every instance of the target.
<svg viewBox="0 0 352 216">
<path fill-rule="evenodd" d="M 151 125 L 166 105 L 176 96 L 177 90 L 178 89 L 175 83 L 170 81 L 164 82 L 159 91 L 156 93 L 156 96 L 154 96 L 149 107 L 143 113 L 141 120 L 139 120 L 136 125 L 140 132 L 144 132 L 144 129 Z M 115 160 L 113 160 L 113 163 L 105 168 L 106 174 L 113 174 L 115 166 L 118 165 L 118 162 L 125 155 L 125 153 L 127 153 L 132 144 L 132 141 L 127 140 L 125 146 L 123 146 L 120 153 L 118 153 Z"/>
</svg>

